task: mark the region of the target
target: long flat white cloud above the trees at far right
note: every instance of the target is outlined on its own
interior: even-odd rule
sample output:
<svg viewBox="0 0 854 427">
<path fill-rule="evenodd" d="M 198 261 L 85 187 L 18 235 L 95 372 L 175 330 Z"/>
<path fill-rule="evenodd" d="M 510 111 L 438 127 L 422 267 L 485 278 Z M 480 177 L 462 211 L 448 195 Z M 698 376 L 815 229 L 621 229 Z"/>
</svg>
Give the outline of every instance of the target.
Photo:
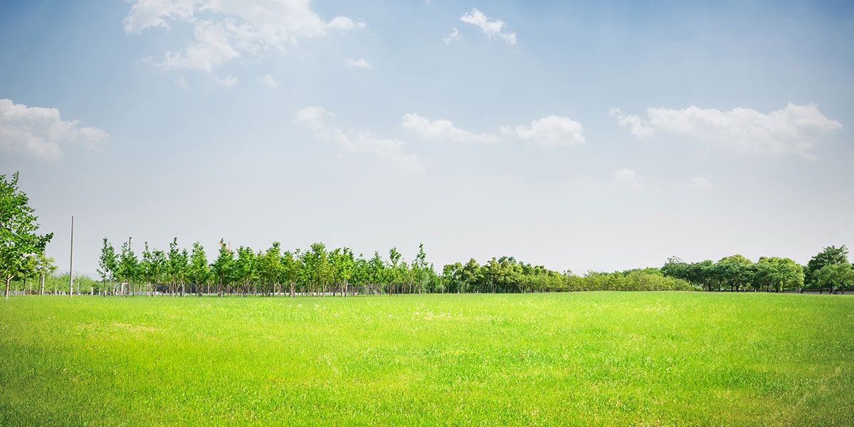
<svg viewBox="0 0 854 427">
<path fill-rule="evenodd" d="M 653 131 L 695 137 L 741 154 L 805 155 L 818 140 L 842 127 L 825 117 L 815 104 L 795 105 L 760 113 L 752 108 L 721 111 L 714 108 L 646 108 L 648 118 L 626 116 L 617 108 L 620 125 L 631 127 L 636 136 Z M 614 113 L 616 111 L 616 113 Z M 641 129 L 635 132 L 635 129 Z M 639 135 L 640 133 L 640 135 Z"/>
</svg>

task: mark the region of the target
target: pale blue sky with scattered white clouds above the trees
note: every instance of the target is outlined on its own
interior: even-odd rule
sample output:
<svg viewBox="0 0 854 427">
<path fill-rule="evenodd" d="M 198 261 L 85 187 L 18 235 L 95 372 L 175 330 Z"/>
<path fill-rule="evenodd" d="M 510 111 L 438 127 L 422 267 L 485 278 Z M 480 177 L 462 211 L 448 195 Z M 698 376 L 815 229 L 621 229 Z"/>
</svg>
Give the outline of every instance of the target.
<svg viewBox="0 0 854 427">
<path fill-rule="evenodd" d="M 0 173 L 48 247 L 313 242 L 437 268 L 854 244 L 848 2 L 0 5 Z"/>
</svg>

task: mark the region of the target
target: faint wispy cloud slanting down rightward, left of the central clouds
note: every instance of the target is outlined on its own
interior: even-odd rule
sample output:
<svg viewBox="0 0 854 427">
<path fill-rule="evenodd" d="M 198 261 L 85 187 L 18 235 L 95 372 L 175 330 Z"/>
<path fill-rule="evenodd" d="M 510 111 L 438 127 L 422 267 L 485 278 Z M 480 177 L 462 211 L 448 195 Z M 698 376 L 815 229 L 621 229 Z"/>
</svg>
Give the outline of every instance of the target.
<svg viewBox="0 0 854 427">
<path fill-rule="evenodd" d="M 404 151 L 406 143 L 395 138 L 377 138 L 371 132 L 358 132 L 351 136 L 341 129 L 328 126 L 326 119 L 335 117 L 322 107 L 307 107 L 296 114 L 294 122 L 298 125 L 307 126 L 316 137 L 331 139 L 341 143 L 342 148 L 352 153 L 370 153 L 376 155 L 382 161 L 415 172 L 422 172 L 426 162 L 418 157 Z"/>
</svg>

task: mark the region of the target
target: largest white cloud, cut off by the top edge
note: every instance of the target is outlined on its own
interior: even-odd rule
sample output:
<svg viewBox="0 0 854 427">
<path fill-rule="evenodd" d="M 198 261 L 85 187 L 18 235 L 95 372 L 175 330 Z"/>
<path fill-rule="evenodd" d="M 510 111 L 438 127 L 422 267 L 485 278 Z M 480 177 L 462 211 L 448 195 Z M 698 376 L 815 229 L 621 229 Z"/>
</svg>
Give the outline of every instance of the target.
<svg viewBox="0 0 854 427">
<path fill-rule="evenodd" d="M 170 24 L 193 26 L 195 41 L 183 52 L 167 51 L 165 68 L 211 72 L 214 67 L 244 55 L 283 52 L 300 38 L 325 36 L 330 30 L 364 28 L 346 16 L 326 22 L 310 0 L 133 0 L 125 17 L 126 32 Z"/>
</svg>

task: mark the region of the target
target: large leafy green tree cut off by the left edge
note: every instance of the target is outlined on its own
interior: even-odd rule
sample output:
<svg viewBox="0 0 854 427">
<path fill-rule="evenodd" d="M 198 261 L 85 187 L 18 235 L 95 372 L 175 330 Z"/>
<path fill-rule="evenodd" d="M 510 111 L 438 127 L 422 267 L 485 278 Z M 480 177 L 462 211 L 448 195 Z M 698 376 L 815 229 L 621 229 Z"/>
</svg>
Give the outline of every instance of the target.
<svg viewBox="0 0 854 427">
<path fill-rule="evenodd" d="M 36 234 L 38 217 L 29 202 L 26 193 L 18 188 L 18 173 L 10 181 L 0 175 L 0 278 L 6 282 L 7 298 L 12 278 L 26 265 L 27 257 L 43 254 L 53 238 L 53 233 Z"/>
</svg>

